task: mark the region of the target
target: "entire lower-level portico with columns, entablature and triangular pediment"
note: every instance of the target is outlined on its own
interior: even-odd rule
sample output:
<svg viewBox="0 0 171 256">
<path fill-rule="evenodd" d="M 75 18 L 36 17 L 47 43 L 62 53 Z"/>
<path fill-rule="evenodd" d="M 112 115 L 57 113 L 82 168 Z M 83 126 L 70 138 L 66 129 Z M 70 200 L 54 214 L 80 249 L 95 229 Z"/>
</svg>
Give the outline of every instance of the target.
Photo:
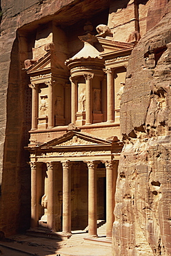
<svg viewBox="0 0 171 256">
<path fill-rule="evenodd" d="M 97 237 L 97 219 L 106 219 L 112 237 L 114 192 L 122 145 L 78 131 L 30 148 L 31 227 L 46 226 L 70 237 L 88 226 Z"/>
</svg>

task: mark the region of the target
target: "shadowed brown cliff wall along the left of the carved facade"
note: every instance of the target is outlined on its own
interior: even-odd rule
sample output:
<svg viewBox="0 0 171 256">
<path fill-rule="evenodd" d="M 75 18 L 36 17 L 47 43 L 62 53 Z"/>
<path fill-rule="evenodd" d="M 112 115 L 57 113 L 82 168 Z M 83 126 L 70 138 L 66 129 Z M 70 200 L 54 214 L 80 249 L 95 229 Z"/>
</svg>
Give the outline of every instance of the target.
<svg viewBox="0 0 171 256">
<path fill-rule="evenodd" d="M 37 20 L 58 12 L 71 2 L 1 1 L 0 230 L 5 235 L 30 226 L 30 167 L 23 147 L 28 145 L 29 139 L 31 92 L 26 74 L 21 70 L 29 48 L 17 29 L 26 24 L 32 29 Z"/>
</svg>

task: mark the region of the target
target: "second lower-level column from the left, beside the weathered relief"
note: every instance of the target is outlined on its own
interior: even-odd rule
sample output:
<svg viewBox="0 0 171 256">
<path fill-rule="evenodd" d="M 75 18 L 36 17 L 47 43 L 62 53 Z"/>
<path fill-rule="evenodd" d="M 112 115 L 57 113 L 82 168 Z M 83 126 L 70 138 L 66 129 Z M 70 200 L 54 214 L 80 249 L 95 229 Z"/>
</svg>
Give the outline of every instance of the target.
<svg viewBox="0 0 171 256">
<path fill-rule="evenodd" d="M 47 226 L 55 230 L 55 214 L 54 214 L 54 172 L 52 162 L 46 163 L 48 174 L 48 214 Z"/>
</svg>

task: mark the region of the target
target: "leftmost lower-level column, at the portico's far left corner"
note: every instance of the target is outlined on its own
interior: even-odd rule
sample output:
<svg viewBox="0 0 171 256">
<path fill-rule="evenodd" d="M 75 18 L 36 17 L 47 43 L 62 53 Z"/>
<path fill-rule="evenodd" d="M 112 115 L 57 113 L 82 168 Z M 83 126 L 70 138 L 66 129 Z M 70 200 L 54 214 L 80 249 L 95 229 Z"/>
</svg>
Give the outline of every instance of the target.
<svg viewBox="0 0 171 256">
<path fill-rule="evenodd" d="M 39 187 L 37 165 L 30 162 L 31 167 L 31 228 L 36 228 L 39 221 Z"/>
</svg>

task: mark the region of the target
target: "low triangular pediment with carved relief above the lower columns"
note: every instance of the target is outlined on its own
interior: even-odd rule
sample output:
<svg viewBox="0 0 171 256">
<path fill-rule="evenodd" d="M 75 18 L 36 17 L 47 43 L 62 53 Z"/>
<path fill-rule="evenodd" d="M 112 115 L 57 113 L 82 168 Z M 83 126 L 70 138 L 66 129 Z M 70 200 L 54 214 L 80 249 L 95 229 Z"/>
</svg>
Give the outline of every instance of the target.
<svg viewBox="0 0 171 256">
<path fill-rule="evenodd" d="M 39 148 L 79 147 L 86 145 L 112 145 L 112 142 L 79 131 L 68 131 L 63 136 L 50 140 L 48 143 L 39 146 Z"/>
</svg>

